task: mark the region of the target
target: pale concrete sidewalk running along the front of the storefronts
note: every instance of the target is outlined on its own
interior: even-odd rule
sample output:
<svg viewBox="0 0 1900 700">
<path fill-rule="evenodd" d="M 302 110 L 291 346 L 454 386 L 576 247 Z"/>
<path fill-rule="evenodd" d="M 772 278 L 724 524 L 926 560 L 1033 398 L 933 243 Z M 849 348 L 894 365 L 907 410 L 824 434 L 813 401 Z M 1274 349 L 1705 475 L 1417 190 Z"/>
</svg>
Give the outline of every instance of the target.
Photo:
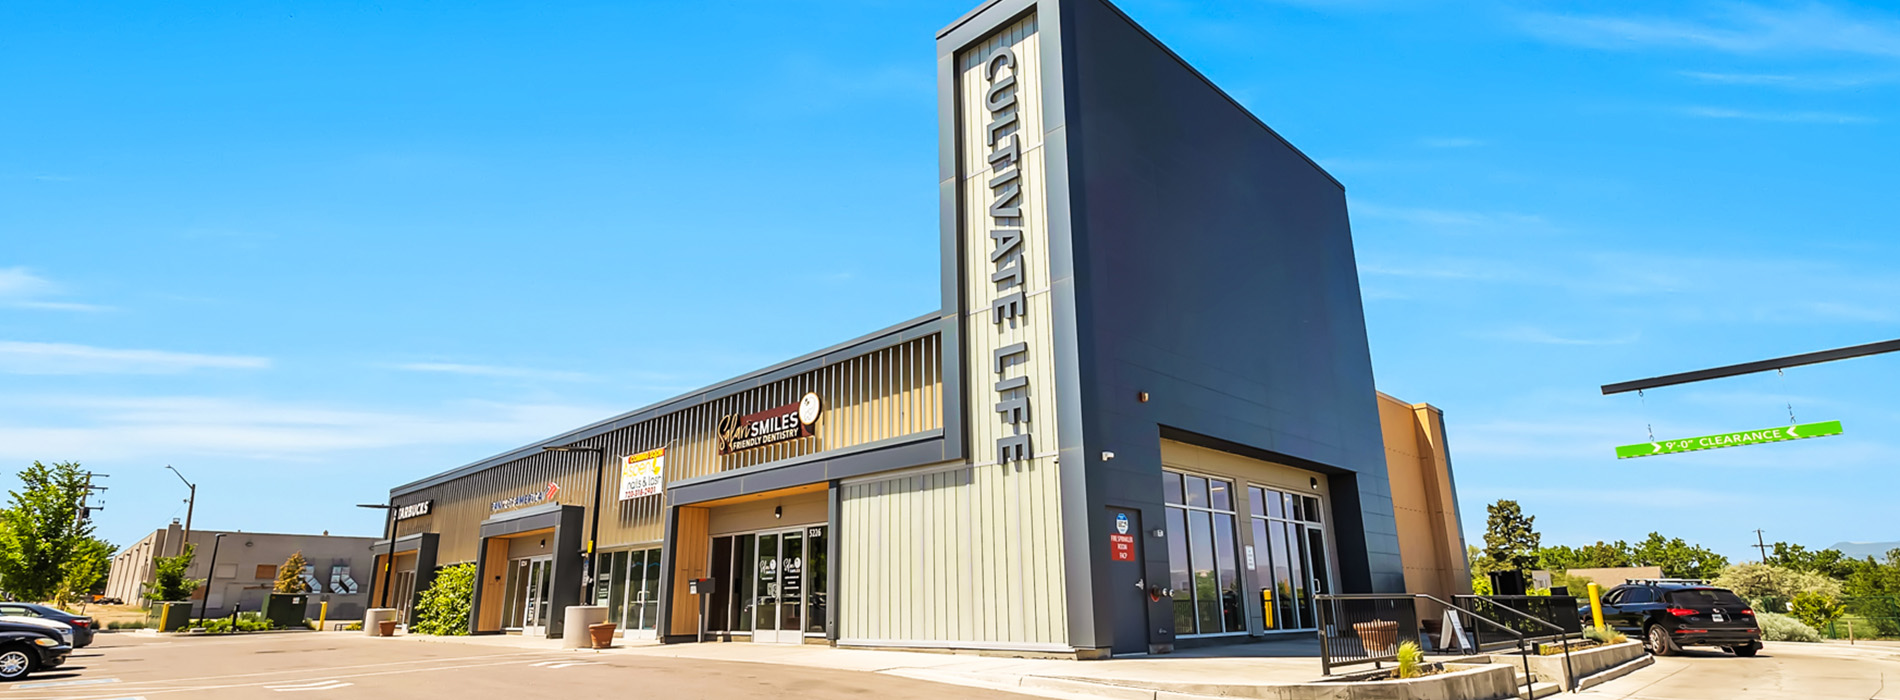
<svg viewBox="0 0 1900 700">
<path fill-rule="evenodd" d="M 391 641 L 562 651 L 559 639 L 524 639 L 517 635 L 401 635 Z M 1265 687 L 1322 679 L 1319 666 L 1319 643 L 1311 637 L 1186 649 L 1165 656 L 1123 656 L 1089 662 L 925 651 L 834 649 L 823 645 L 659 645 L 654 641 L 619 639 L 616 639 L 614 649 L 570 649 L 568 652 L 830 668 L 891 673 L 937 683 L 1005 689 L 1056 698 L 1155 698 L 1163 689 L 1220 696 L 1269 696 Z"/>
</svg>

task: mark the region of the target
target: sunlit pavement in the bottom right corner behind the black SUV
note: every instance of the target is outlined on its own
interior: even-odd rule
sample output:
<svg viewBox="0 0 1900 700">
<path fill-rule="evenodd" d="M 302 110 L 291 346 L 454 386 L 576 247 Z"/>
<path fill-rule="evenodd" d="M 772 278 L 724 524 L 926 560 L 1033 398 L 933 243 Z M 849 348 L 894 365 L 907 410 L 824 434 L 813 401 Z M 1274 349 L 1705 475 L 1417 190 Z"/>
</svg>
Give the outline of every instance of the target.
<svg viewBox="0 0 1900 700">
<path fill-rule="evenodd" d="M 1900 700 L 1900 645 L 1771 641 L 1756 658 L 1691 647 L 1579 694 L 1590 700 Z"/>
</svg>

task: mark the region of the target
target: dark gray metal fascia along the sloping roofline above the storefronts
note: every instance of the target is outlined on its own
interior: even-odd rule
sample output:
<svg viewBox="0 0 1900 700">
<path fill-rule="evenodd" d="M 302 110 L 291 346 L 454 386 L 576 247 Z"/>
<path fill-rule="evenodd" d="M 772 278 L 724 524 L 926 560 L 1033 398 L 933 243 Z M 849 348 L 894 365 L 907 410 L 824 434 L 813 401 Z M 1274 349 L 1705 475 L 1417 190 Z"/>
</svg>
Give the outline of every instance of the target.
<svg viewBox="0 0 1900 700">
<path fill-rule="evenodd" d="M 718 384 L 712 384 L 712 386 L 707 386 L 707 388 L 699 388 L 699 390 L 694 390 L 694 392 L 686 392 L 686 394 L 674 396 L 671 399 L 663 399 L 659 403 L 650 403 L 646 407 L 633 409 L 633 411 L 621 413 L 621 415 L 606 418 L 606 420 L 591 422 L 587 426 L 581 426 L 581 428 L 576 428 L 576 430 L 568 430 L 564 434 L 559 434 L 559 436 L 553 436 L 553 438 L 547 438 L 547 439 L 536 439 L 530 445 L 522 445 L 522 447 L 511 449 L 507 453 L 500 453 L 500 455 L 494 455 L 494 457 L 483 458 L 483 460 L 475 460 L 475 462 L 452 468 L 448 472 L 439 472 L 439 474 L 433 474 L 433 476 L 410 481 L 410 483 L 403 483 L 399 487 L 390 489 L 390 498 L 405 496 L 405 495 L 428 489 L 428 487 L 435 487 L 435 485 L 441 485 L 441 483 L 448 483 L 448 481 L 460 479 L 460 477 L 469 476 L 469 474 L 477 474 L 477 472 L 483 472 L 483 470 L 488 470 L 488 468 L 494 468 L 494 466 L 502 466 L 502 464 L 519 460 L 522 457 L 538 455 L 542 451 L 542 445 L 564 445 L 564 443 L 574 443 L 574 441 L 581 441 L 581 439 L 604 436 L 604 434 L 610 434 L 614 430 L 635 426 L 635 424 L 640 424 L 640 422 L 646 422 L 646 420 L 652 420 L 652 418 L 657 418 L 657 417 L 663 417 L 663 415 L 669 415 L 669 413 L 674 413 L 674 411 L 690 409 L 694 405 L 714 401 L 714 399 L 720 399 L 720 398 L 726 398 L 726 396 L 732 396 L 732 394 L 739 394 L 739 392 L 745 392 L 745 390 L 750 390 L 750 388 L 758 388 L 758 386 L 770 382 L 770 380 L 762 382 L 760 377 L 773 377 L 771 380 L 779 380 L 779 379 L 796 375 L 796 373 L 779 375 L 781 371 L 788 371 L 792 367 L 806 367 L 806 363 L 813 363 L 813 365 L 809 365 L 809 369 L 815 369 L 815 367 L 823 367 L 823 365 L 828 365 L 828 363 L 836 363 L 836 361 L 851 360 L 851 358 L 864 356 L 864 354 L 870 354 L 870 352 L 878 352 L 878 350 L 884 350 L 884 348 L 889 348 L 893 344 L 899 344 L 899 342 L 904 342 L 904 340 L 912 340 L 912 339 L 918 339 L 918 337 L 923 337 L 923 335 L 940 333 L 939 325 L 942 325 L 942 314 L 940 312 L 931 312 L 931 314 L 925 314 L 925 316 L 918 316 L 918 318 L 912 318 L 908 321 L 902 321 L 902 323 L 885 327 L 882 331 L 868 333 L 868 335 L 863 335 L 863 337 L 857 337 L 857 339 L 834 344 L 834 346 L 825 348 L 825 350 L 809 352 L 809 354 L 804 354 L 804 356 L 798 356 L 798 358 L 775 363 L 775 365 L 766 367 L 766 369 L 745 373 L 745 375 L 728 379 L 724 382 L 718 382 Z M 944 365 L 946 365 L 944 371 L 948 373 L 948 365 L 950 365 L 950 361 L 948 361 L 948 350 L 946 350 Z M 800 371 L 809 371 L 809 369 L 800 369 Z"/>
</svg>

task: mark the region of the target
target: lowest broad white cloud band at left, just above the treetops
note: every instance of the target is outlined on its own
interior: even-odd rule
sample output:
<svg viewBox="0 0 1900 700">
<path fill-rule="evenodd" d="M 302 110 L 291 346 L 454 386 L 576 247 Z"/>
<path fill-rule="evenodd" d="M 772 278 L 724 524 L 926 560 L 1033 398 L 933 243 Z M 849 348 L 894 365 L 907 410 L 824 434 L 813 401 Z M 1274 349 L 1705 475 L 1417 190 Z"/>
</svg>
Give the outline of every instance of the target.
<svg viewBox="0 0 1900 700">
<path fill-rule="evenodd" d="M 0 398 L 0 458 L 118 460 L 226 455 L 317 460 L 412 445 L 526 443 L 608 411 L 534 403 L 454 403 L 424 413 L 258 399 Z"/>
</svg>

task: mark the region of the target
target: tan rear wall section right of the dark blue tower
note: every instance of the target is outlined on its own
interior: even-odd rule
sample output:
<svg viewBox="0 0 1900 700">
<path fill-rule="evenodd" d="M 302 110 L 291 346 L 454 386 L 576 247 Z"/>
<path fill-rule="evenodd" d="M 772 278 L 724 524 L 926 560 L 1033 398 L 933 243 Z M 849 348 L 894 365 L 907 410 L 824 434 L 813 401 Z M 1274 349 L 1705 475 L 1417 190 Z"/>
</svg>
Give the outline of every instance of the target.
<svg viewBox="0 0 1900 700">
<path fill-rule="evenodd" d="M 1379 394 L 1379 428 L 1385 432 L 1385 470 L 1393 485 L 1406 592 L 1446 599 L 1471 593 L 1452 458 L 1444 443 L 1444 411 Z"/>
</svg>

